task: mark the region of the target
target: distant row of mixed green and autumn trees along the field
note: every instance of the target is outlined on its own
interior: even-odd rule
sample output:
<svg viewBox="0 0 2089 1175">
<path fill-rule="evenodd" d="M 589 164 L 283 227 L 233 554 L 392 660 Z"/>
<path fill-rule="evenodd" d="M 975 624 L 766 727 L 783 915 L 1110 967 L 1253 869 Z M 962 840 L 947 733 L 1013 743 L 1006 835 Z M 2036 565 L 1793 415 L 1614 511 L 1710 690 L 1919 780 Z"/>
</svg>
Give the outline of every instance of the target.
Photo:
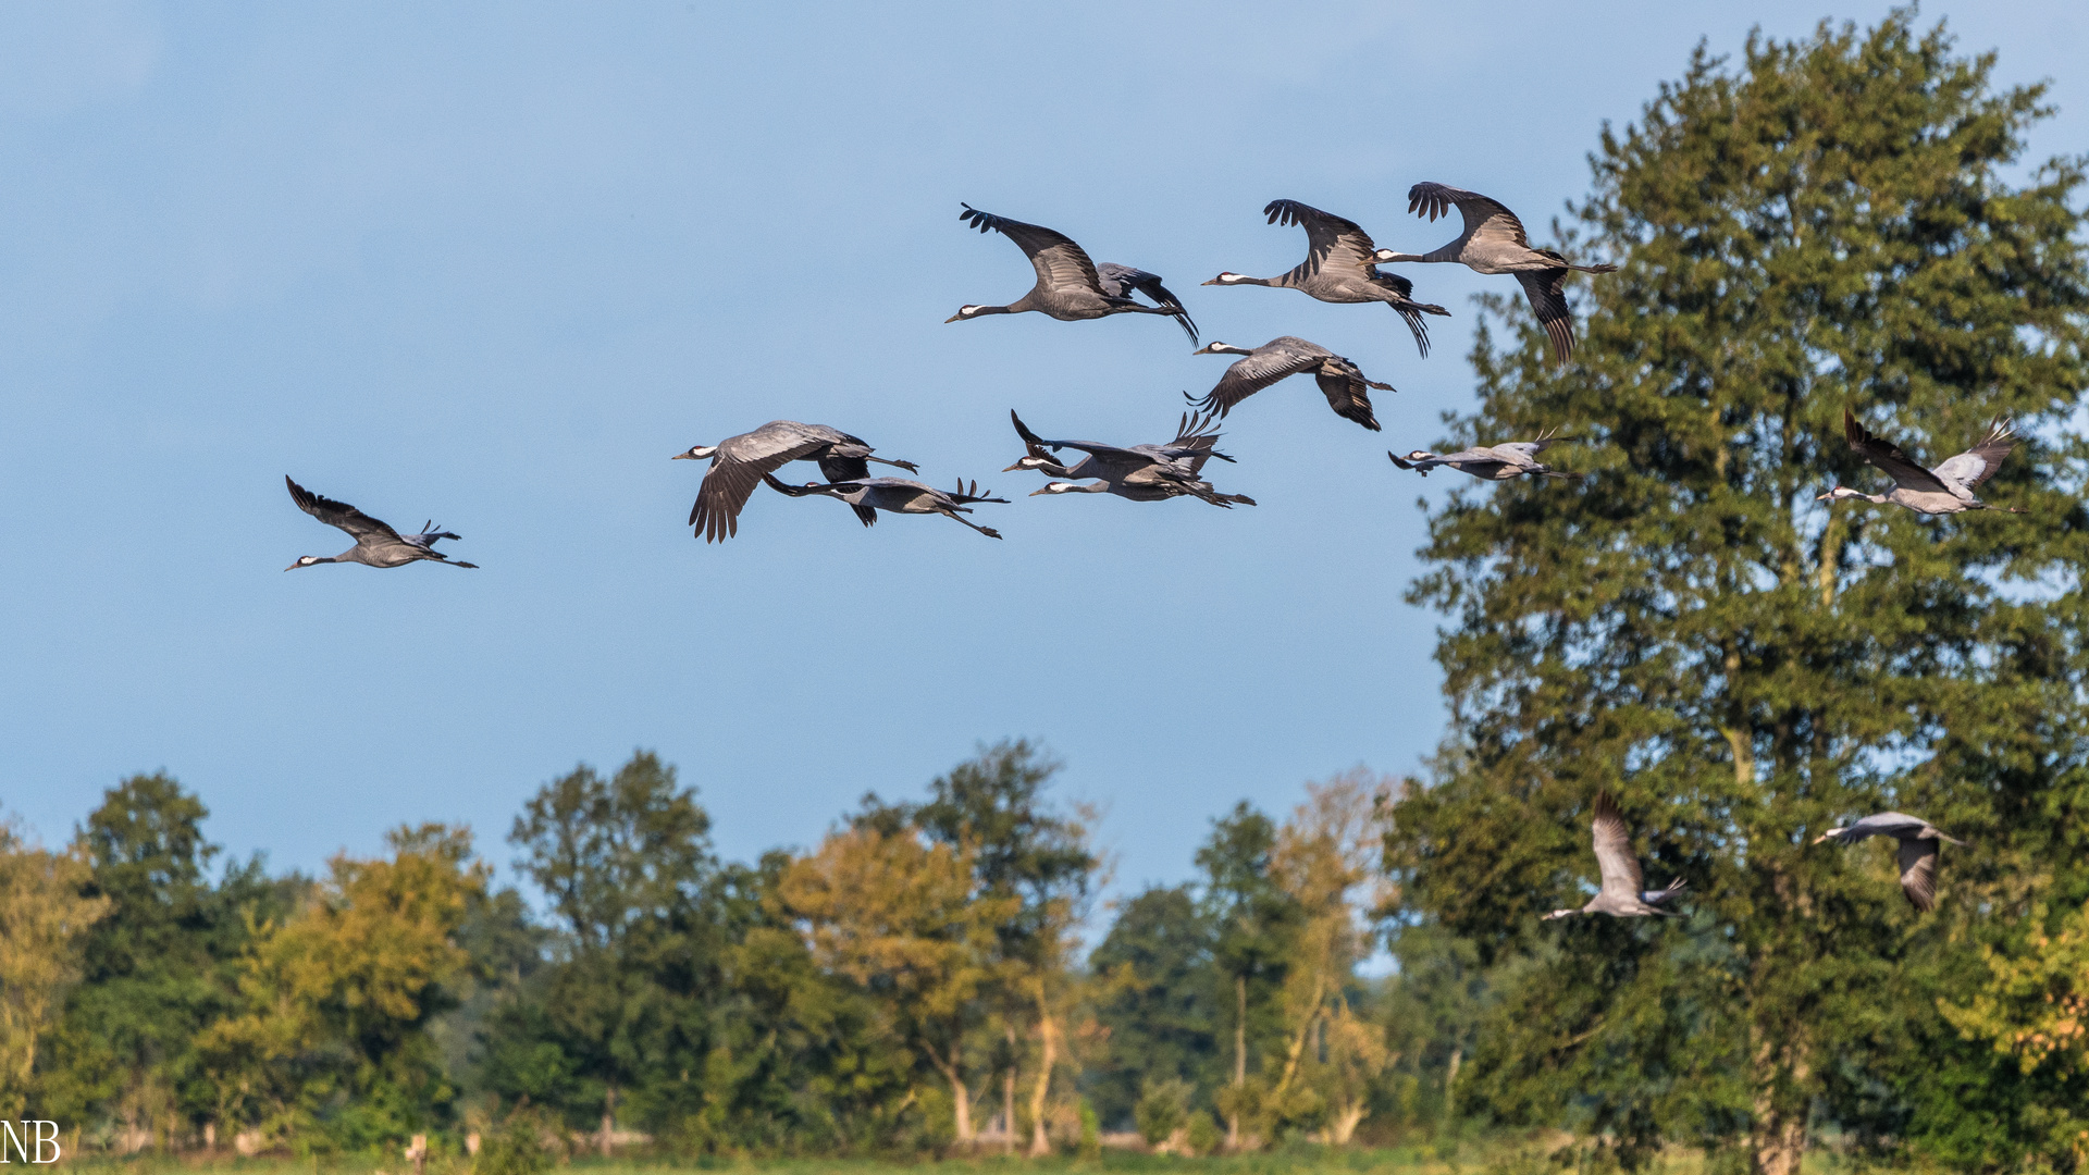
<svg viewBox="0 0 2089 1175">
<path fill-rule="evenodd" d="M 1379 794 L 1212 824 L 1195 882 L 1095 949 L 1093 817 L 1003 742 L 811 851 L 721 861 L 650 753 L 545 784 L 508 834 L 399 828 L 324 876 L 217 861 L 167 776 L 63 851 L 0 847 L 0 1116 L 86 1150 L 572 1146 L 848 1154 L 1352 1142 L 1448 1119 L 1475 1001 L 1456 953 L 1366 981 Z M 1412 943 L 1410 943 L 1412 945 Z M 549 1127 L 549 1129 L 547 1129 Z"/>
</svg>

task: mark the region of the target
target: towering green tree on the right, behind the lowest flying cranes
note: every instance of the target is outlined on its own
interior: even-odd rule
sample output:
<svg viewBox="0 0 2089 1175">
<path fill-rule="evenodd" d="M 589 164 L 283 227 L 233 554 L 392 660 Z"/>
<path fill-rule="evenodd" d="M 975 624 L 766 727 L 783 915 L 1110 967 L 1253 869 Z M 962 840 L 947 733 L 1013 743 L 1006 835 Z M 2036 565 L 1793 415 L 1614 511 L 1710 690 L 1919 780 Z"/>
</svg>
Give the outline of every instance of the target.
<svg viewBox="0 0 2089 1175">
<path fill-rule="evenodd" d="M 1510 345 L 1481 330 L 1452 445 L 1565 429 L 1590 477 L 1431 510 L 1410 598 L 1450 619 L 1456 736 L 1387 847 L 1410 914 L 1533 953 L 1466 1087 L 1496 1114 L 1767 1175 L 1828 1125 L 1924 1144 L 1968 943 L 2016 935 L 2035 889 L 2083 899 L 2083 169 L 2020 159 L 2041 88 L 1991 69 L 1911 10 L 1698 50 L 1604 132 L 1560 232 L 1621 263 L 1573 289 L 1577 362 L 1492 303 Z M 1928 464 L 2014 418 L 1982 496 L 2031 514 L 1815 502 L 1884 483 L 1845 408 Z M 1688 922 L 1538 926 L 1594 876 L 1600 788 L 1648 876 L 1690 880 Z M 1937 914 L 1891 847 L 1809 845 L 1878 809 L 1974 840 Z"/>
</svg>

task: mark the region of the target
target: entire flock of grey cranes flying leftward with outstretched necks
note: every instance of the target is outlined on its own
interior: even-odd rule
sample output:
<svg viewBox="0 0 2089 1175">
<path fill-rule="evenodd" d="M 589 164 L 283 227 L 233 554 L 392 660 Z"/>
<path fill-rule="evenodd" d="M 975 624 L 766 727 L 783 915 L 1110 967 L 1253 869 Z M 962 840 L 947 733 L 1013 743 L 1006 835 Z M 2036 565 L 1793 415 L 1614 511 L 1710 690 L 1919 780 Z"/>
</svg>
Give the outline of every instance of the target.
<svg viewBox="0 0 2089 1175">
<path fill-rule="evenodd" d="M 984 232 L 999 232 L 1015 243 L 1036 270 L 1036 284 L 1030 293 L 1007 305 L 967 303 L 944 322 L 969 322 L 996 314 L 1044 314 L 1061 322 L 1086 322 L 1113 314 L 1157 314 L 1172 318 L 1191 343 L 1197 343 L 1197 324 L 1189 309 L 1157 274 L 1113 261 L 1095 263 L 1074 238 L 1051 228 L 1024 224 L 959 205 L 959 220 Z M 1573 312 L 1567 305 L 1565 282 L 1569 274 L 1609 274 L 1617 266 L 1581 266 L 1569 261 L 1552 249 L 1535 249 L 1517 213 L 1479 192 L 1450 188 L 1443 184 L 1414 184 L 1408 190 L 1408 211 L 1429 222 L 1458 209 L 1464 230 L 1439 249 L 1429 253 L 1398 253 L 1379 249 L 1356 222 L 1324 213 L 1297 201 L 1270 201 L 1262 209 L 1268 224 L 1297 226 L 1306 230 L 1306 259 L 1274 278 L 1249 278 L 1230 270 L 1203 282 L 1207 286 L 1272 286 L 1293 289 L 1329 303 L 1385 303 L 1414 335 L 1414 345 L 1429 355 L 1429 318 L 1448 316 L 1441 305 L 1414 301 L 1414 282 L 1400 274 L 1379 270 L 1387 263 L 1460 263 L 1479 274 L 1512 274 L 1531 303 L 1538 324 L 1544 326 L 1552 364 L 1563 366 L 1573 358 L 1575 332 Z M 1145 297 L 1147 301 L 1141 301 Z M 1003 473 L 1036 470 L 1049 481 L 1036 496 L 1059 493 L 1113 493 L 1132 502 L 1161 502 L 1168 498 L 1197 498 L 1212 506 L 1253 506 L 1245 493 L 1220 493 L 1203 477 L 1203 466 L 1212 460 L 1233 462 L 1218 452 L 1216 422 L 1258 391 L 1272 387 L 1293 374 L 1312 372 L 1327 395 L 1329 408 L 1343 420 L 1352 420 L 1372 433 L 1379 418 L 1370 406 L 1370 389 L 1393 391 L 1393 385 L 1368 378 L 1356 362 L 1329 351 L 1318 343 L 1281 335 L 1260 347 L 1235 347 L 1228 343 L 1207 343 L 1197 355 L 1241 355 L 1218 378 L 1203 397 L 1193 397 L 1193 412 L 1184 414 L 1170 441 L 1145 445 L 1105 445 L 1095 441 L 1047 441 L 1024 424 L 1022 416 L 1009 412 L 1015 435 L 1024 443 L 1024 456 Z M 1991 506 L 1974 489 L 1980 487 L 2001 466 L 2014 447 L 2014 433 L 2008 420 L 1995 420 L 1987 435 L 1964 454 L 1957 454 L 1934 468 L 1903 454 L 1893 441 L 1868 431 L 1857 416 L 1842 410 L 1842 435 L 1853 452 L 1893 479 L 1886 493 L 1863 493 L 1845 485 L 1834 485 L 1820 500 L 1842 502 L 1861 498 L 1876 504 L 1895 504 L 1920 514 L 1957 514 L 1962 510 L 2008 510 L 2020 514 L 2016 506 Z M 1517 477 L 1579 479 L 1579 473 L 1552 468 L 1538 460 L 1548 445 L 1571 441 L 1556 429 L 1540 433 L 1531 441 L 1506 441 L 1498 445 L 1469 447 L 1456 454 L 1431 454 L 1414 450 L 1406 458 L 1387 452 L 1385 456 L 1402 470 L 1423 477 L 1431 468 L 1443 466 L 1477 477 L 1481 481 L 1508 481 Z M 1074 464 L 1065 464 L 1061 454 L 1080 454 Z M 675 454 L 675 460 L 708 460 L 710 468 L 696 491 L 689 508 L 689 527 L 704 542 L 723 542 L 740 531 L 740 514 L 754 496 L 756 485 L 769 485 L 790 498 L 838 498 L 856 512 L 865 527 L 877 521 L 877 512 L 892 514 L 942 514 L 955 523 L 971 527 L 986 537 L 999 539 L 1001 531 L 969 521 L 978 504 L 1007 504 L 1007 498 L 982 493 L 978 483 L 959 481 L 955 489 L 936 489 L 905 477 L 871 477 L 871 462 L 919 473 L 913 462 L 875 456 L 863 437 L 829 429 L 825 424 L 800 424 L 796 420 L 771 420 L 760 429 L 725 437 L 714 445 L 691 445 Z M 790 462 L 813 462 L 825 481 L 792 485 L 781 481 L 777 470 Z M 420 533 L 401 535 L 393 527 L 363 514 L 347 502 L 334 502 L 301 487 L 284 477 L 290 500 L 313 519 L 347 531 L 355 546 L 336 556 L 301 556 L 284 571 L 318 567 L 322 562 L 361 562 L 366 567 L 405 567 L 409 562 L 443 562 L 449 567 L 476 567 L 453 560 L 435 550 L 439 539 L 457 542 L 451 531 L 435 523 L 422 525 Z M 1609 914 L 1615 918 L 1673 916 L 1663 905 L 1671 903 L 1684 882 L 1671 880 L 1665 889 L 1642 891 L 1640 861 L 1632 853 L 1632 834 L 1623 815 L 1606 792 L 1596 794 L 1592 807 L 1592 834 L 1596 863 L 1602 884 L 1579 909 L 1554 909 L 1546 920 L 1573 914 Z M 1928 912 L 1937 905 L 1937 847 L 1941 840 L 1964 845 L 1939 832 L 1924 820 L 1886 811 L 1868 815 L 1851 826 L 1832 828 L 1822 840 L 1849 845 L 1868 836 L 1893 836 L 1901 845 L 1901 889 L 1916 909 Z"/>
</svg>

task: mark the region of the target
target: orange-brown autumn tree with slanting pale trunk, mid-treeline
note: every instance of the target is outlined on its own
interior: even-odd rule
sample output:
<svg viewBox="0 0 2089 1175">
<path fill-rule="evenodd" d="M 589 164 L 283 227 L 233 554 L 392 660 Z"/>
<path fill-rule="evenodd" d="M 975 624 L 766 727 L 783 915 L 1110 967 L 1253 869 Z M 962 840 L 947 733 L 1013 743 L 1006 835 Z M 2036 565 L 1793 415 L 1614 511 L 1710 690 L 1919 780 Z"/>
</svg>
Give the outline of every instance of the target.
<svg viewBox="0 0 2089 1175">
<path fill-rule="evenodd" d="M 967 1014 L 994 981 L 994 928 L 1019 899 L 984 893 L 969 849 L 859 824 L 794 859 L 775 901 L 813 958 L 871 993 L 890 1031 L 942 1075 L 957 1142 L 969 1146 Z"/>
</svg>

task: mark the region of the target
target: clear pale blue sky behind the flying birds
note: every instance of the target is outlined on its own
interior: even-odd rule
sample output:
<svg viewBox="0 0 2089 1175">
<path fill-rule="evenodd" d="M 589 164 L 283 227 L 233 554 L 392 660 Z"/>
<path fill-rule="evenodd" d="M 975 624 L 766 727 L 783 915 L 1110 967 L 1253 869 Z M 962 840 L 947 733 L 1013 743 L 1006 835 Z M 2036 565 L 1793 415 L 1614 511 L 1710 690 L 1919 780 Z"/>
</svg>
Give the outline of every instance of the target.
<svg viewBox="0 0 2089 1175">
<path fill-rule="evenodd" d="M 1120 886 L 1176 880 L 1237 799 L 1441 738 L 1437 619 L 1402 602 L 1423 483 L 1383 454 L 1466 404 L 1469 299 L 1504 289 L 1408 268 L 1456 312 L 1418 360 L 1379 307 L 1197 282 L 1304 255 L 1276 197 L 1425 251 L 1450 234 L 1404 192 L 1441 180 L 1535 230 L 1698 38 L 1822 15 L 4 4 L 0 805 L 58 840 L 165 767 L 278 868 L 420 820 L 506 861 L 543 780 L 648 746 L 752 857 L 1022 734 Z M 2035 155 L 2083 151 L 2076 6 L 1939 17 L 2053 79 Z M 1009 408 L 1157 441 L 1224 360 L 1145 316 L 944 324 L 1030 284 L 959 201 L 1164 274 L 1207 341 L 1352 355 L 1400 387 L 1385 433 L 1293 381 L 1226 422 L 1216 481 L 1258 508 L 1026 498 Z M 779 416 L 1013 498 L 978 514 L 1007 542 L 767 491 L 691 542 L 666 458 Z M 284 575 L 347 546 L 286 473 L 483 571 Z"/>
</svg>

